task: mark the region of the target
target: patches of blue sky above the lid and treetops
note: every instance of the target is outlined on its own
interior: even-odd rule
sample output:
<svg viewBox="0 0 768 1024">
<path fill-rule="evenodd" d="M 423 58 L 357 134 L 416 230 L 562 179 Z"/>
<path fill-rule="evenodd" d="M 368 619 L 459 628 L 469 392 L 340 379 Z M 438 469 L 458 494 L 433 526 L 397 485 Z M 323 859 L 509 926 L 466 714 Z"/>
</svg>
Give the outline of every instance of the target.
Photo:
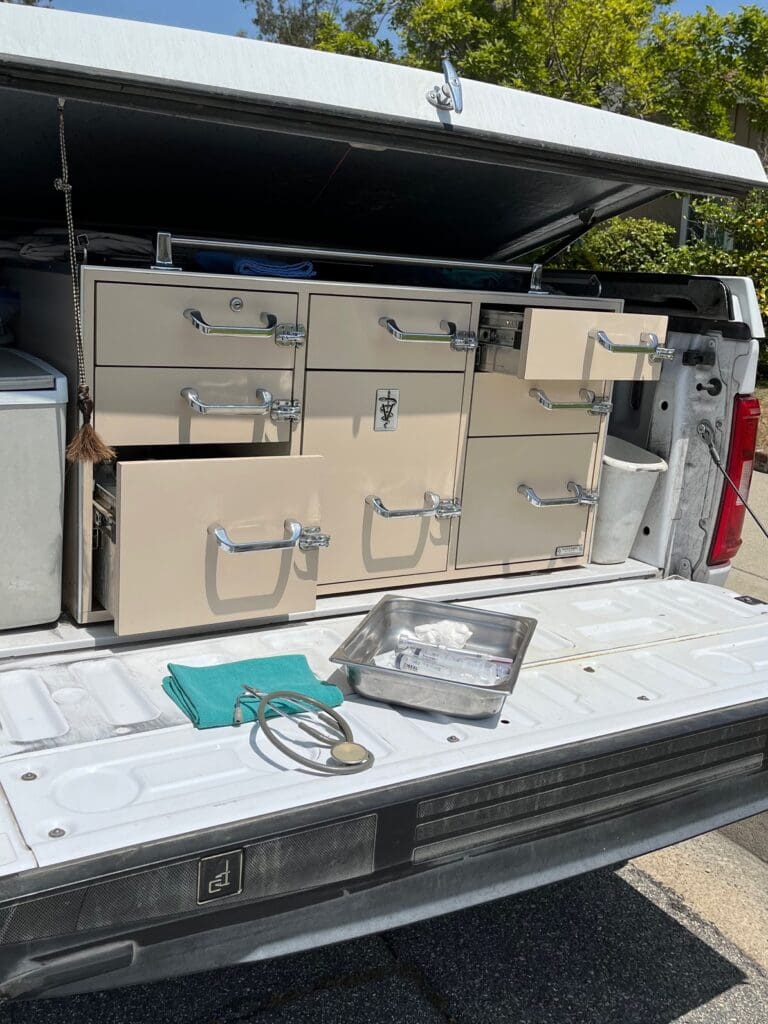
<svg viewBox="0 0 768 1024">
<path fill-rule="evenodd" d="M 754 2 L 754 0 L 752 0 Z M 720 11 L 740 6 L 738 0 L 711 0 Z M 243 0 L 54 0 L 57 10 L 76 10 L 85 14 L 110 14 L 137 22 L 159 22 L 205 32 L 233 35 L 248 31 L 251 19 Z M 677 10 L 688 14 L 706 6 L 701 0 L 678 0 Z"/>
</svg>

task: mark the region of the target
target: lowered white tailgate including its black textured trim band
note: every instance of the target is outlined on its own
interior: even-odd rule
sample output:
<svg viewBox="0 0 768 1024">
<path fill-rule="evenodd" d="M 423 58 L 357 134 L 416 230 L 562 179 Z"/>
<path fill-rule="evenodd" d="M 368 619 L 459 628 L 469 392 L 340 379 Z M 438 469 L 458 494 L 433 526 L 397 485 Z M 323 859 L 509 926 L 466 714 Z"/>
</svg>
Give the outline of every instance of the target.
<svg viewBox="0 0 768 1024">
<path fill-rule="evenodd" d="M 328 657 L 358 614 L 92 650 L 59 638 L 43 656 L 17 644 L 0 668 L 0 991 L 338 941 L 768 807 L 768 605 L 676 579 L 463 603 L 539 620 L 499 718 L 347 694 L 376 763 L 342 777 L 301 769 L 255 726 L 196 730 L 160 683 L 170 660 L 290 652 L 343 685 Z M 221 857 L 243 884 L 201 903 L 202 865 Z"/>
</svg>

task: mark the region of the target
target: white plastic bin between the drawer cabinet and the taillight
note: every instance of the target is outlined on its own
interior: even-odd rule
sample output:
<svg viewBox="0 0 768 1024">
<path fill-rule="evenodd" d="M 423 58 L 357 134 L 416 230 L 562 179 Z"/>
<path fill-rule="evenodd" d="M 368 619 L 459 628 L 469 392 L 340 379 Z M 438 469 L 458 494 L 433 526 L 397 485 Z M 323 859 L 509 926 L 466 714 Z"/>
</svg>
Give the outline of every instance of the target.
<svg viewBox="0 0 768 1024">
<path fill-rule="evenodd" d="M 667 463 L 636 444 L 605 440 L 600 502 L 592 542 L 592 561 L 612 565 L 629 558 L 650 496 Z"/>
</svg>

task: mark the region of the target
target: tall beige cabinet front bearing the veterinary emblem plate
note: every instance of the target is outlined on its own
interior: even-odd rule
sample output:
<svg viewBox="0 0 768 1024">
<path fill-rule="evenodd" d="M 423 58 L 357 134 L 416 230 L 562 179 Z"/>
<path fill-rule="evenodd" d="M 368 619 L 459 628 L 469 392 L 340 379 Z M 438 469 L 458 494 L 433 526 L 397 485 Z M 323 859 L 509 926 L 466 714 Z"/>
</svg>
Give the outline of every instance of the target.
<svg viewBox="0 0 768 1024">
<path fill-rule="evenodd" d="M 432 490 L 453 498 L 463 374 L 307 374 L 304 453 L 325 457 L 321 583 L 439 572 L 447 567 L 450 519 L 390 518 L 420 509 Z M 397 398 L 396 429 L 375 430 L 377 391 Z"/>
</svg>

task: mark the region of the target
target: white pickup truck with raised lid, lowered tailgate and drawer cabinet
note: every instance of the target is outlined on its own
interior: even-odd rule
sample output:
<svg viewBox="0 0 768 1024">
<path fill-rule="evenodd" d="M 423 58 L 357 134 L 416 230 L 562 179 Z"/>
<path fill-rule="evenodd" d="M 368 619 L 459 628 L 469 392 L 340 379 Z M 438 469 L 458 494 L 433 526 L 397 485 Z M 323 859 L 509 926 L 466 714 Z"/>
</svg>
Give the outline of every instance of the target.
<svg viewBox="0 0 768 1024">
<path fill-rule="evenodd" d="M 657 197 L 765 187 L 754 153 L 15 5 L 0 123 L 0 996 L 312 948 L 768 808 L 768 606 L 722 589 L 744 509 L 712 455 L 746 492 L 753 285 L 547 268 Z M 65 473 L 56 380 L 114 459 Z M 608 435 L 668 466 L 612 563 Z M 499 714 L 350 691 L 329 658 L 392 593 L 538 621 Z M 344 689 L 369 770 L 161 686 L 283 654 Z"/>
</svg>

